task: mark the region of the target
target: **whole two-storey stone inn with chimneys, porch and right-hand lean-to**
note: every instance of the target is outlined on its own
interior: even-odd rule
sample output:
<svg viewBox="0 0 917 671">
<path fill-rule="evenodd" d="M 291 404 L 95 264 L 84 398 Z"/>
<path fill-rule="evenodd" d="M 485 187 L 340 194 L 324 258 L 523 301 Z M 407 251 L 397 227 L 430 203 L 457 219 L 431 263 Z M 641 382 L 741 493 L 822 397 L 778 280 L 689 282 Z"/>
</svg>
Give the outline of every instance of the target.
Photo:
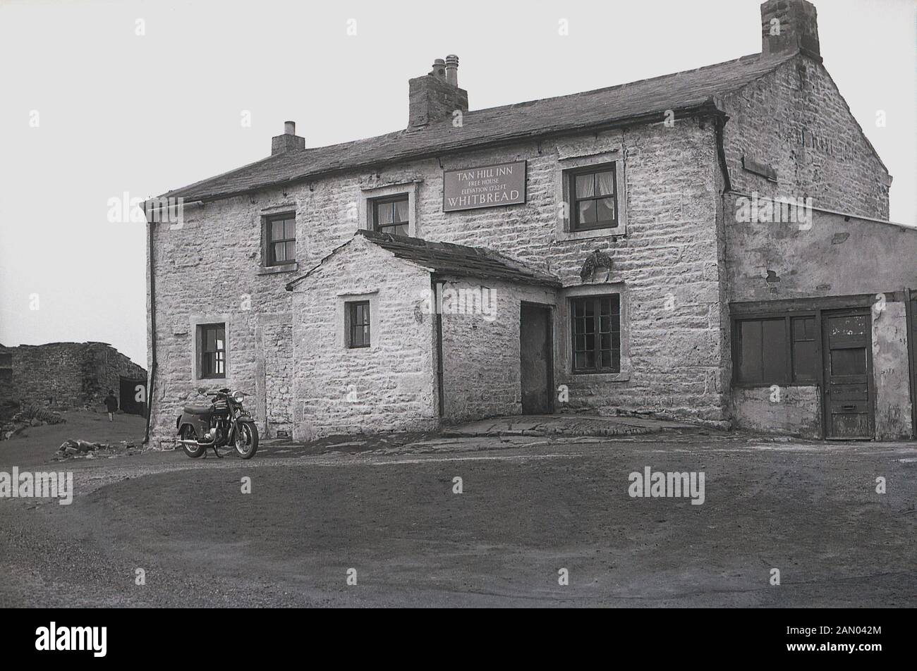
<svg viewBox="0 0 917 671">
<path fill-rule="evenodd" d="M 756 29 L 761 53 L 482 110 L 449 56 L 402 130 L 307 148 L 287 122 L 164 194 L 181 225 L 149 203 L 152 438 L 202 386 L 301 439 L 566 410 L 912 437 L 917 229 L 814 6 Z"/>
</svg>

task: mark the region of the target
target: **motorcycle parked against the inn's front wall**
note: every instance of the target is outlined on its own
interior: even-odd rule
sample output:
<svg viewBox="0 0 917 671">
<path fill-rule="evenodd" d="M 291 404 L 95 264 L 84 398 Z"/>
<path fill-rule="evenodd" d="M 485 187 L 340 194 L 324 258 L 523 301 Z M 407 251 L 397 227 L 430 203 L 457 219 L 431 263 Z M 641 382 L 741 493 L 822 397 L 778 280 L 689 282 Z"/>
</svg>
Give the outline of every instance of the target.
<svg viewBox="0 0 917 671">
<path fill-rule="evenodd" d="M 175 422 L 184 453 L 197 458 L 204 455 L 207 447 L 213 447 L 214 454 L 222 458 L 217 447 L 233 446 L 239 457 L 254 457 L 258 451 L 258 427 L 249 411 L 242 407 L 245 394 L 227 389 L 198 392 L 210 397 L 211 402 L 184 406 L 184 412 Z"/>
</svg>

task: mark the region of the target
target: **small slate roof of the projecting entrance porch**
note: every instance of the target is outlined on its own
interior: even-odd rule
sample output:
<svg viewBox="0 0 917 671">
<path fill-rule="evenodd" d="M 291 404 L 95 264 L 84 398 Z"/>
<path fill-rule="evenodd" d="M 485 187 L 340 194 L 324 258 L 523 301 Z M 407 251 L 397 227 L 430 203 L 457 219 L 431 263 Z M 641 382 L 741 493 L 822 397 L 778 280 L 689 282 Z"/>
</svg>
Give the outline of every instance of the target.
<svg viewBox="0 0 917 671">
<path fill-rule="evenodd" d="M 456 245 L 450 242 L 432 242 L 430 240 L 422 240 L 419 237 L 392 236 L 389 233 L 367 230 L 357 231 L 354 237 L 356 236 L 363 236 L 371 243 L 392 252 L 398 259 L 411 261 L 430 269 L 433 274 L 443 277 L 471 277 L 481 280 L 510 281 L 547 287 L 560 286 L 560 281 L 553 275 L 530 268 L 524 263 L 483 247 L 467 247 L 466 245 Z M 337 247 L 303 276 L 289 281 L 286 285 L 287 291 L 292 291 L 296 284 L 304 281 L 315 270 L 320 268 L 327 259 L 347 247 L 353 239 L 350 238 L 347 243 Z"/>
</svg>

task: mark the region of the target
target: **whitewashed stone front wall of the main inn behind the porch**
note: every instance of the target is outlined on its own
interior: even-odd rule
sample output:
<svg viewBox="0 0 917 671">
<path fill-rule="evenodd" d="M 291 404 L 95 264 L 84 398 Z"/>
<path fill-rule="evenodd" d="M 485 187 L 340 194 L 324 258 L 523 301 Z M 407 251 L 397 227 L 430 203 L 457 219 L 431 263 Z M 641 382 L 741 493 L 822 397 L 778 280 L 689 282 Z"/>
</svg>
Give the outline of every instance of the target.
<svg viewBox="0 0 917 671">
<path fill-rule="evenodd" d="M 444 168 L 517 159 L 528 162 L 525 204 L 442 212 Z M 620 161 L 625 236 L 558 231 L 561 170 L 573 160 Z M 361 203 L 373 190 L 392 185 L 415 192 L 416 236 L 489 247 L 556 274 L 565 287 L 558 292 L 562 310 L 567 294 L 582 285 L 580 268 L 587 255 L 596 248 L 610 254 L 613 280 L 620 283 L 630 315 L 629 369 L 613 379 L 570 375 L 569 343 L 558 336 L 556 380 L 569 385 L 572 407 L 721 421 L 727 402 L 719 381 L 725 350 L 717 269 L 718 170 L 713 126 L 686 118 L 674 127 L 657 124 L 469 151 L 442 157 L 442 166 L 438 159 L 424 159 L 354 170 L 290 185 L 286 192 L 267 189 L 189 207 L 182 228 L 154 225 L 159 362 L 154 431 L 171 436 L 176 413 L 195 396 L 194 324 L 206 321 L 226 321 L 226 386 L 260 389 L 254 411 L 263 423 L 267 402 L 259 320 L 291 313 L 284 284 L 365 226 Z M 288 211 L 296 213 L 298 270 L 262 274 L 261 216 Z M 369 268 L 354 272 L 365 281 L 373 274 Z M 558 322 L 566 318 L 558 314 Z M 299 368 L 303 359 L 294 360 Z"/>
</svg>

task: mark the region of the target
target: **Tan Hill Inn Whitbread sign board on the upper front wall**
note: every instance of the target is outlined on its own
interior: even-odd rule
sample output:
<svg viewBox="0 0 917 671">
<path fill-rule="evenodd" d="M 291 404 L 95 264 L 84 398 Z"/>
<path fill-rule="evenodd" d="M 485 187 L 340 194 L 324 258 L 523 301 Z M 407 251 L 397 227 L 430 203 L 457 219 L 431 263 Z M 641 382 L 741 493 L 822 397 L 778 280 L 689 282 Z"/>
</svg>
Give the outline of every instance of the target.
<svg viewBox="0 0 917 671">
<path fill-rule="evenodd" d="M 443 212 L 525 203 L 525 160 L 443 170 Z"/>
</svg>

